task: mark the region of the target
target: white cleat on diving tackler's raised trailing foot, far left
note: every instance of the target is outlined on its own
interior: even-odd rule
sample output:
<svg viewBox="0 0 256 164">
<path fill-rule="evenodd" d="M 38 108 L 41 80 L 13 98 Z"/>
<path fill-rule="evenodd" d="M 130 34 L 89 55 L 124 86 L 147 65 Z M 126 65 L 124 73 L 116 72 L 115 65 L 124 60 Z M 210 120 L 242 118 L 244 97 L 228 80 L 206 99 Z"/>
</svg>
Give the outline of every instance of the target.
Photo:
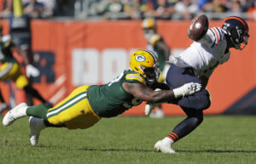
<svg viewBox="0 0 256 164">
<path fill-rule="evenodd" d="M 15 122 L 16 119 L 20 118 L 22 114 L 20 114 L 20 108 L 26 107 L 26 103 L 21 103 L 17 105 L 14 109 L 9 110 L 3 117 L 3 126 L 9 126 Z"/>
</svg>

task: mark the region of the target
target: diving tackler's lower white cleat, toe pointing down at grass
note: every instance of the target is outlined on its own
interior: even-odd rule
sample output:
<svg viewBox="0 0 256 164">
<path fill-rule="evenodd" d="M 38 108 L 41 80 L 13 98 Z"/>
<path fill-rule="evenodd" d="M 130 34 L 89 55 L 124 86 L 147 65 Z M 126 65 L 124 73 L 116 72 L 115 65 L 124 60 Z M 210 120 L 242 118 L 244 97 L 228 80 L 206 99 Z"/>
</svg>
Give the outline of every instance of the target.
<svg viewBox="0 0 256 164">
<path fill-rule="evenodd" d="M 30 123 L 30 143 L 32 146 L 38 144 L 40 132 L 45 128 L 44 119 L 36 118 L 36 117 L 29 117 Z"/>
</svg>

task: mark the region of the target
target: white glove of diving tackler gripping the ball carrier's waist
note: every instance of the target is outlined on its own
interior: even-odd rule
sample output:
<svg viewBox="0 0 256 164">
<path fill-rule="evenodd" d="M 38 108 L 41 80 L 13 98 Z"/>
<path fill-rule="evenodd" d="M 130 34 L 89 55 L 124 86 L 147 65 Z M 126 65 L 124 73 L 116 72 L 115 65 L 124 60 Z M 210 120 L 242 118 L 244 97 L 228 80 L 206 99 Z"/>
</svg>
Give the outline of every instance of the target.
<svg viewBox="0 0 256 164">
<path fill-rule="evenodd" d="M 190 82 L 184 84 L 180 88 L 173 89 L 173 93 L 175 98 L 179 98 L 181 96 L 189 96 L 191 94 L 197 93 L 198 91 L 201 90 L 201 84 L 200 83 L 195 83 L 195 82 Z"/>
</svg>

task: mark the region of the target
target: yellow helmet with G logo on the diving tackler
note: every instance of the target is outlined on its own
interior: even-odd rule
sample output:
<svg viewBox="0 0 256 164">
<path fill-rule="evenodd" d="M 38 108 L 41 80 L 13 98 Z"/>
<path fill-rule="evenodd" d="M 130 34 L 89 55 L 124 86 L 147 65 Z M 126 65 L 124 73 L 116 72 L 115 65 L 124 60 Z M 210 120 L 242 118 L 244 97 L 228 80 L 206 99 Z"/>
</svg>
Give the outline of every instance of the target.
<svg viewBox="0 0 256 164">
<path fill-rule="evenodd" d="M 146 49 L 138 49 L 131 54 L 130 68 L 141 74 L 147 82 L 154 82 L 160 74 L 157 55 Z"/>
</svg>

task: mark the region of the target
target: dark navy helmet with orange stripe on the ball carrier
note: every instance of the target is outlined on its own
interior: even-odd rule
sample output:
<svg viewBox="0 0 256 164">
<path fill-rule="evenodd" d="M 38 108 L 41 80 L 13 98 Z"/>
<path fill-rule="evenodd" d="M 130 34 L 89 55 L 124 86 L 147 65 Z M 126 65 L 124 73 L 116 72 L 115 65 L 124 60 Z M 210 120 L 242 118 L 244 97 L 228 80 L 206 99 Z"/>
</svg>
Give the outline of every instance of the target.
<svg viewBox="0 0 256 164">
<path fill-rule="evenodd" d="M 245 20 L 240 17 L 230 16 L 224 20 L 222 28 L 230 37 L 234 48 L 243 49 L 246 47 L 250 36 L 248 34 L 249 28 Z"/>
</svg>

